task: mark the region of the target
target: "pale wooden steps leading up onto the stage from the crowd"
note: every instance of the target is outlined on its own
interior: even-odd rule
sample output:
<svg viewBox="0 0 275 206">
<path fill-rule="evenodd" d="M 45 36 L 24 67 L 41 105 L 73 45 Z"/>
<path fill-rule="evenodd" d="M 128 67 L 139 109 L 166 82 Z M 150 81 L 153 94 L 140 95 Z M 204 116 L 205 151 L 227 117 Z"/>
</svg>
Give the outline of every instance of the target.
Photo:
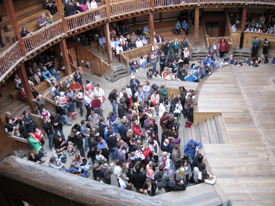
<svg viewBox="0 0 275 206">
<path fill-rule="evenodd" d="M 206 119 L 190 128 L 184 128 L 184 138 L 181 139 L 181 148 L 184 148 L 190 139 L 201 142 L 201 144 L 229 144 L 223 117 L 214 115 L 214 119 Z"/>
</svg>

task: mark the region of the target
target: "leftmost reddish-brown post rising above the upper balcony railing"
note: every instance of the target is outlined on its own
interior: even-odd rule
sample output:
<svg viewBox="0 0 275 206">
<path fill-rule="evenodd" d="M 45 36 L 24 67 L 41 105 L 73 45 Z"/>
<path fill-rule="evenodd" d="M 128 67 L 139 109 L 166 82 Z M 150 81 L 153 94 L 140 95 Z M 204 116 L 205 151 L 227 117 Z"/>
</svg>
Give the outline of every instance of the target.
<svg viewBox="0 0 275 206">
<path fill-rule="evenodd" d="M 22 56 L 25 56 L 25 49 L 23 45 L 23 41 L 21 38 L 20 30 L 17 23 L 17 16 L 15 16 L 12 0 L 3 0 L 3 5 L 5 6 L 5 11 L 8 14 L 8 18 L 10 19 L 10 24 L 12 25 L 12 31 L 14 36 L 17 36 L 19 41 L 20 51 Z"/>
</svg>

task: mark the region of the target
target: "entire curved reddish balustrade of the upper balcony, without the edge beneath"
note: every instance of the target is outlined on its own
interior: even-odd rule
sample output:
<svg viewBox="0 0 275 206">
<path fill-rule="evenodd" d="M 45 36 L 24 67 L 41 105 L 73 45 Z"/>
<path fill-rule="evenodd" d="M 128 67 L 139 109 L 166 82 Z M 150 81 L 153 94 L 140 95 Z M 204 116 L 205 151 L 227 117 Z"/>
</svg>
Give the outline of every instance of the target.
<svg viewBox="0 0 275 206">
<path fill-rule="evenodd" d="M 7 49 L 0 56 L 0 82 L 3 82 L 5 76 L 23 62 L 23 59 L 27 60 L 28 56 L 33 52 L 49 45 L 52 41 L 61 41 L 61 38 L 65 38 L 67 34 L 72 34 L 72 32 L 83 27 L 145 10 L 151 10 L 153 12 L 154 8 L 175 8 L 175 5 L 177 5 L 177 7 L 181 5 L 183 7 L 185 5 L 199 6 L 200 3 L 247 3 L 251 5 L 263 5 L 275 4 L 275 0 L 127 0 L 110 3 L 108 6 L 102 5 L 95 10 L 89 10 L 66 17 L 66 32 L 63 31 L 62 20 L 58 20 L 51 25 L 34 32 L 34 34 L 23 38 L 23 49 L 25 50 L 26 56 L 21 54 L 19 42 L 12 45 L 12 47 Z M 109 8 L 108 11 L 107 8 Z"/>
</svg>

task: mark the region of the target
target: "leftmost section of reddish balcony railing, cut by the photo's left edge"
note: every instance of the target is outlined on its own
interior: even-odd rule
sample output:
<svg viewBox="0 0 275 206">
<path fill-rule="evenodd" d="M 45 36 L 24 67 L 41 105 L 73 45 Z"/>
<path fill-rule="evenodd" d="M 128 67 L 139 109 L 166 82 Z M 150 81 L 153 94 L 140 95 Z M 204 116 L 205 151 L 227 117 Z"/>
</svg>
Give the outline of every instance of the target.
<svg viewBox="0 0 275 206">
<path fill-rule="evenodd" d="M 0 58 L 0 81 L 2 81 L 5 76 L 10 73 L 14 68 L 19 65 L 22 60 L 22 54 L 19 47 L 19 42 L 14 43 L 10 48 L 8 48 Z"/>
</svg>

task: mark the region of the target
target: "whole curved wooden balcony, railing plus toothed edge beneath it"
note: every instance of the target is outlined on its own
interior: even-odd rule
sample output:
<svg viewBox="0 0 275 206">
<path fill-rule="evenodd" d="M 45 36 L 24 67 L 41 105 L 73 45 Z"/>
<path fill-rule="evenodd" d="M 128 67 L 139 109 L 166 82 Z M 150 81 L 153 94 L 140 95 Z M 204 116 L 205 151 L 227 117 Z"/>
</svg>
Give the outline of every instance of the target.
<svg viewBox="0 0 275 206">
<path fill-rule="evenodd" d="M 169 3 L 168 3 L 169 2 Z M 115 19 L 127 19 L 140 16 L 148 12 L 165 12 L 182 10 L 183 8 L 217 8 L 217 7 L 264 7 L 274 8 L 275 0 L 127 0 L 122 2 L 107 3 L 95 10 L 89 10 L 65 18 L 67 31 L 63 30 L 62 19 L 34 32 L 23 38 L 23 55 L 17 41 L 0 56 L 0 85 L 21 65 L 39 52 L 60 42 L 63 38 L 73 36 L 77 32 L 85 32 L 92 27 L 102 25 Z"/>
</svg>

